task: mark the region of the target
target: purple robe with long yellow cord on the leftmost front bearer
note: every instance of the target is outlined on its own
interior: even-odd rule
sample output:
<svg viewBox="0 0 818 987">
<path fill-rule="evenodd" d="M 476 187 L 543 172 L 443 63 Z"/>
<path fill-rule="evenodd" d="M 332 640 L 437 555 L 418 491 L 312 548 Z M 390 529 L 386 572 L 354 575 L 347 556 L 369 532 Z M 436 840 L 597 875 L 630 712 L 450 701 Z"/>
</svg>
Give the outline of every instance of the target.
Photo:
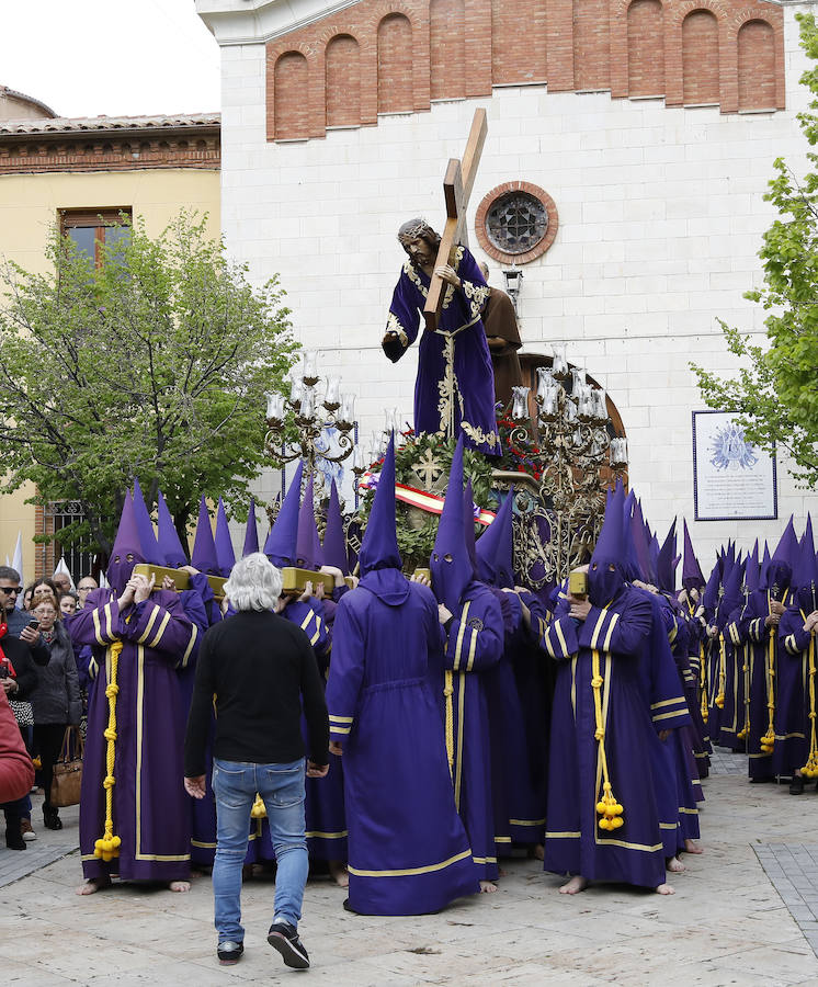
<svg viewBox="0 0 818 987">
<path fill-rule="evenodd" d="M 96 677 L 88 706 L 88 736 L 80 799 L 80 851 L 87 878 L 182 881 L 190 875 L 191 816 L 183 786 L 184 721 L 177 669 L 184 668 L 196 638 L 174 592 L 156 590 L 120 613 L 116 594 L 96 589 L 71 617 L 71 636 L 94 646 Z M 120 856 L 94 858 L 105 824 L 105 759 L 111 673 L 109 646 L 123 642 L 118 658 L 113 775 L 114 833 Z"/>
</svg>

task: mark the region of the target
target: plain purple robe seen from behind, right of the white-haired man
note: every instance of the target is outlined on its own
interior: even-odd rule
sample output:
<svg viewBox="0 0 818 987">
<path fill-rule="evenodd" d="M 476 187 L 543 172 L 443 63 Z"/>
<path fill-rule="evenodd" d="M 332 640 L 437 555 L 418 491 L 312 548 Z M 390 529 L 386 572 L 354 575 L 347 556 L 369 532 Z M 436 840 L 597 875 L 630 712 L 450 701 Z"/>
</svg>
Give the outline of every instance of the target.
<svg viewBox="0 0 818 987">
<path fill-rule="evenodd" d="M 384 568 L 341 598 L 327 705 L 344 750 L 350 907 L 363 915 L 438 911 L 479 890 L 431 687 L 441 666 L 425 587 Z"/>
</svg>

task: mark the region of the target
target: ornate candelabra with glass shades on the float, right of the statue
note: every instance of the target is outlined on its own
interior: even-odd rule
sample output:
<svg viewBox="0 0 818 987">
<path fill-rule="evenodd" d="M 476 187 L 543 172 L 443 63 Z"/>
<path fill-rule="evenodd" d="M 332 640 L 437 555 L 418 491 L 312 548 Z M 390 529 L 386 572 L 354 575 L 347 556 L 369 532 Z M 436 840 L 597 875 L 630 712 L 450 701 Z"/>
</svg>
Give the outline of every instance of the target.
<svg viewBox="0 0 818 987">
<path fill-rule="evenodd" d="M 559 581 L 587 560 L 605 510 L 605 487 L 627 468 L 627 440 L 614 434 L 602 387 L 586 371 L 569 365 L 564 343 L 554 345 L 552 366 L 537 367 L 531 415 L 529 387 L 514 387 L 513 443 L 535 436 L 542 475 L 536 497 L 527 496 L 527 523 L 515 529 L 515 555 L 538 582 Z M 538 503 L 537 503 L 538 501 Z M 537 518 L 547 523 L 547 531 Z"/>
</svg>

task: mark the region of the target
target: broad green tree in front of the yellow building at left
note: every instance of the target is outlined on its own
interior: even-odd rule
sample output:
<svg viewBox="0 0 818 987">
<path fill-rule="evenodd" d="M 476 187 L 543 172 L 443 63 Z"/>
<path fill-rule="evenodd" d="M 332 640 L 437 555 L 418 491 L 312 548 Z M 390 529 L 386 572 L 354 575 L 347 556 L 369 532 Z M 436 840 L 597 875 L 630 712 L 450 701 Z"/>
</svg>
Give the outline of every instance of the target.
<svg viewBox="0 0 818 987">
<path fill-rule="evenodd" d="M 0 271 L 3 487 L 78 501 L 61 541 L 107 552 L 134 477 L 184 531 L 202 494 L 239 504 L 261 469 L 264 395 L 297 349 L 289 311 L 276 277 L 253 288 L 204 227 L 181 213 L 151 239 L 137 220 L 99 266 L 55 230 L 47 274 Z"/>
</svg>

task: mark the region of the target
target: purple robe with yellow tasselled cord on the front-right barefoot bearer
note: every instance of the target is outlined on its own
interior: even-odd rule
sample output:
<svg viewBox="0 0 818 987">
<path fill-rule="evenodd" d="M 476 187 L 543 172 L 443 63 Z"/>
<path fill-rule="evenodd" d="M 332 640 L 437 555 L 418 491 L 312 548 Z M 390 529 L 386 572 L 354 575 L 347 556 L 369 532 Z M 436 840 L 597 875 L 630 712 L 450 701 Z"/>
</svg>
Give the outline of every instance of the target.
<svg viewBox="0 0 818 987">
<path fill-rule="evenodd" d="M 643 695 L 640 656 L 650 635 L 650 600 L 623 589 L 606 609 L 591 606 L 579 624 L 568 615 L 546 628 L 542 644 L 558 661 L 554 694 L 545 833 L 546 871 L 644 887 L 664 882 L 664 850 L 651 771 L 661 746 Z M 599 828 L 602 763 L 595 739 L 593 650 L 600 658 L 602 721 L 622 828 Z M 684 699 L 679 696 L 679 707 Z M 669 704 L 663 712 L 675 712 Z M 661 727 L 658 727 L 661 728 Z"/>
</svg>

